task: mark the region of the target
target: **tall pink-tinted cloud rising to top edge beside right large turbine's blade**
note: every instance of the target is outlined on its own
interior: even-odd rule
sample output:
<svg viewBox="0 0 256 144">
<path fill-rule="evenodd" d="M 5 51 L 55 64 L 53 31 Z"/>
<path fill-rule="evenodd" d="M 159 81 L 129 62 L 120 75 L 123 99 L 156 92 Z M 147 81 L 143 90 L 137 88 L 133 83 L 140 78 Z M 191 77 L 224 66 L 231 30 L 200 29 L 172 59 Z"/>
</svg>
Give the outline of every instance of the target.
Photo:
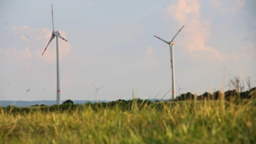
<svg viewBox="0 0 256 144">
<path fill-rule="evenodd" d="M 167 13 L 178 20 L 181 26 L 185 24 L 186 28 L 182 29 L 185 36 L 182 39 L 186 43 L 182 45 L 188 49 L 194 60 L 202 59 L 202 56 L 207 56 L 206 60 L 209 61 L 220 60 L 220 52 L 212 47 L 205 47 L 205 42 L 211 36 L 211 20 L 201 20 L 199 10 L 200 3 L 197 0 L 180 0 L 177 6 L 168 6 Z"/>
</svg>

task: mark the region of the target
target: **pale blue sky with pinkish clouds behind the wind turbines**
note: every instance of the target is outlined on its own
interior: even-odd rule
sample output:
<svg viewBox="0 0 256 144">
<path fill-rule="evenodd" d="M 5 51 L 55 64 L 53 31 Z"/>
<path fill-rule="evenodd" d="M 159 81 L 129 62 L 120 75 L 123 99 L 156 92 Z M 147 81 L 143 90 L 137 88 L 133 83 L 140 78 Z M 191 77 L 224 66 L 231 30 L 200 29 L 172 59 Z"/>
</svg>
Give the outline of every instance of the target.
<svg viewBox="0 0 256 144">
<path fill-rule="evenodd" d="M 255 0 L 0 0 L 0 100 L 56 100 L 56 38 L 41 56 L 51 3 L 54 30 L 68 40 L 59 39 L 61 100 L 95 100 L 91 82 L 104 86 L 99 100 L 132 91 L 170 99 L 169 46 L 153 35 L 170 41 L 183 25 L 174 40 L 181 93 L 212 93 L 234 76 L 256 86 Z"/>
</svg>

